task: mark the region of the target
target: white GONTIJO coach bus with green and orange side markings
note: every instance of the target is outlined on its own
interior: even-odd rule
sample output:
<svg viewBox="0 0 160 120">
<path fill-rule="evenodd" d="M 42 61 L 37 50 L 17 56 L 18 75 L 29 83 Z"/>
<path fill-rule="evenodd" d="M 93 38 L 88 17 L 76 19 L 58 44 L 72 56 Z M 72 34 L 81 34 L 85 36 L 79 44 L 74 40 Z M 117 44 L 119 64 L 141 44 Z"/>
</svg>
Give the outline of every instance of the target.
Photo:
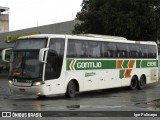
<svg viewBox="0 0 160 120">
<path fill-rule="evenodd" d="M 6 53 L 12 51 L 10 59 Z M 152 41 L 95 34 L 39 34 L 20 37 L 2 51 L 10 63 L 13 94 L 39 97 L 158 82 L 158 50 Z"/>
</svg>

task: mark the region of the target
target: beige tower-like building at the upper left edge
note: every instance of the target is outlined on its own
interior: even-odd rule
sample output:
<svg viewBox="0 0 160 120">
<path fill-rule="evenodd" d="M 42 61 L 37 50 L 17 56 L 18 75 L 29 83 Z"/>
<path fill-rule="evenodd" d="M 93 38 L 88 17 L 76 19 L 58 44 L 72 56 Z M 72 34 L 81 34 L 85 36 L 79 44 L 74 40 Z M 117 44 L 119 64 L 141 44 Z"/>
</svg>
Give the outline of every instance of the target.
<svg viewBox="0 0 160 120">
<path fill-rule="evenodd" d="M 9 32 L 9 8 L 0 6 L 0 33 Z"/>
</svg>

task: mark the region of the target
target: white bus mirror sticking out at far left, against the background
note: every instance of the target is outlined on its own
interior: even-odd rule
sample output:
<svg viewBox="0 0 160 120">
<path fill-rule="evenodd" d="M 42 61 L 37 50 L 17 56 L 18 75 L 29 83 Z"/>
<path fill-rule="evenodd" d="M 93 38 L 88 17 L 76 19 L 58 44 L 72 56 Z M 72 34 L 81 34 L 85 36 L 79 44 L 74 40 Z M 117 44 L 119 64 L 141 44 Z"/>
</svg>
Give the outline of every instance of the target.
<svg viewBox="0 0 160 120">
<path fill-rule="evenodd" d="M 2 50 L 2 60 L 4 62 L 10 62 L 10 55 L 11 55 L 11 50 L 13 48 L 7 48 Z"/>
</svg>

